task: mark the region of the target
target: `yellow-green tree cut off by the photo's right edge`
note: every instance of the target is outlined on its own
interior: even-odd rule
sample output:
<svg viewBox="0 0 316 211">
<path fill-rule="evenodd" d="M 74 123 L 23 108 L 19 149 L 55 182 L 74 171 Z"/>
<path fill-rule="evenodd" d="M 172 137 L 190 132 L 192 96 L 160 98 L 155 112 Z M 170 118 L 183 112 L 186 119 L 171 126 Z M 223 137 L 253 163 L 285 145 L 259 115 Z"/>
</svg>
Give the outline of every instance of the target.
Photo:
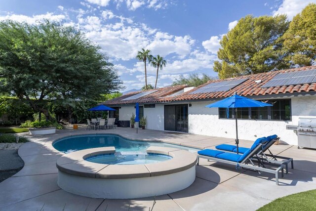
<svg viewBox="0 0 316 211">
<path fill-rule="evenodd" d="M 316 59 L 316 4 L 306 6 L 290 23 L 283 35 L 285 61 L 291 66 L 310 66 Z"/>
</svg>

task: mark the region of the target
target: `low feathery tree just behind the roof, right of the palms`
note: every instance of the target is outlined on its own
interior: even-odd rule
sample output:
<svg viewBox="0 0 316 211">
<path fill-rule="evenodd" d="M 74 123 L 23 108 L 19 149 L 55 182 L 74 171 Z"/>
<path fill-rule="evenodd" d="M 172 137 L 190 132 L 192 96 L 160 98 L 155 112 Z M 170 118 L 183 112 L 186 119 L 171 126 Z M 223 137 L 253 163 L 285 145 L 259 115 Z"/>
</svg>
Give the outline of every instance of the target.
<svg viewBox="0 0 316 211">
<path fill-rule="evenodd" d="M 215 78 L 208 76 L 207 74 L 203 73 L 202 77 L 198 74 L 194 73 L 190 75 L 188 78 L 184 76 L 180 76 L 179 79 L 176 79 L 172 85 L 182 85 L 187 84 L 188 86 L 199 86 L 205 84 L 208 81 L 214 80 Z"/>
</svg>

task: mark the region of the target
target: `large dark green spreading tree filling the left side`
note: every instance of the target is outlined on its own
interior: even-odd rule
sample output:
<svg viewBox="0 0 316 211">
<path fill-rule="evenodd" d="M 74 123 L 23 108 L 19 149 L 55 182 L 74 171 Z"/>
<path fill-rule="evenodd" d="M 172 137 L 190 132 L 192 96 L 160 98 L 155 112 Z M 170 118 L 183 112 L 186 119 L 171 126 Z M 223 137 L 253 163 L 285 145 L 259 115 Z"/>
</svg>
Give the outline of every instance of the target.
<svg viewBox="0 0 316 211">
<path fill-rule="evenodd" d="M 49 120 L 47 103 L 67 105 L 121 88 L 100 47 L 73 27 L 0 22 L 0 92 L 26 101 Z"/>
</svg>

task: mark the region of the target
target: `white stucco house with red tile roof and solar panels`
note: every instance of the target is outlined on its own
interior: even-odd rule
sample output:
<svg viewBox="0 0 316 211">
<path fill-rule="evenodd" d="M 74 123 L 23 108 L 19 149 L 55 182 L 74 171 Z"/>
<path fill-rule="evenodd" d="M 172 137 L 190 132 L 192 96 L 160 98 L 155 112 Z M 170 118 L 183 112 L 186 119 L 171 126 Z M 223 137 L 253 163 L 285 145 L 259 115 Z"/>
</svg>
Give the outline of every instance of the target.
<svg viewBox="0 0 316 211">
<path fill-rule="evenodd" d="M 235 91 L 273 104 L 237 110 L 240 139 L 277 134 L 282 141 L 297 145 L 297 131 L 289 126 L 298 125 L 299 117 L 316 118 L 316 66 L 209 81 L 198 87 L 130 92 L 102 104 L 117 109 L 111 117 L 129 121 L 138 102 L 148 129 L 235 138 L 235 112 L 205 107 Z"/>
</svg>

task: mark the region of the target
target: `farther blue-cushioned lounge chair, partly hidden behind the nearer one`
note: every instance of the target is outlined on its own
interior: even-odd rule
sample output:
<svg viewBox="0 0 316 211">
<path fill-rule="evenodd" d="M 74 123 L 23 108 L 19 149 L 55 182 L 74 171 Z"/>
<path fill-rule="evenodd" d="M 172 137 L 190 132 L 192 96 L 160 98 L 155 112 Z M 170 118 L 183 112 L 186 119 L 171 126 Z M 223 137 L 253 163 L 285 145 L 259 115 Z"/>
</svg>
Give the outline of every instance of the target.
<svg viewBox="0 0 316 211">
<path fill-rule="evenodd" d="M 265 138 L 265 137 L 264 137 Z M 257 154 L 258 157 L 265 161 L 265 162 L 269 162 L 272 164 L 284 164 L 285 165 L 285 172 L 286 174 L 288 174 L 288 164 L 291 163 L 291 169 L 294 169 L 293 166 L 293 158 L 286 158 L 286 157 L 282 157 L 282 156 L 277 156 L 272 154 L 272 152 L 270 151 L 270 147 L 277 141 L 279 140 L 279 137 L 277 137 L 277 135 L 270 135 L 266 138 L 267 142 L 266 144 L 264 144 L 262 146 L 262 150 Z M 220 144 L 215 146 L 216 149 L 218 150 L 223 150 L 223 151 L 229 151 L 229 152 L 234 152 L 237 153 L 237 146 L 235 145 L 230 145 L 230 144 Z M 246 147 L 238 147 L 238 153 L 240 154 L 244 154 L 247 150 L 249 150 L 249 148 Z M 269 151 L 270 154 L 266 154 L 265 152 Z M 281 159 L 281 160 L 277 160 L 277 159 Z"/>
</svg>

